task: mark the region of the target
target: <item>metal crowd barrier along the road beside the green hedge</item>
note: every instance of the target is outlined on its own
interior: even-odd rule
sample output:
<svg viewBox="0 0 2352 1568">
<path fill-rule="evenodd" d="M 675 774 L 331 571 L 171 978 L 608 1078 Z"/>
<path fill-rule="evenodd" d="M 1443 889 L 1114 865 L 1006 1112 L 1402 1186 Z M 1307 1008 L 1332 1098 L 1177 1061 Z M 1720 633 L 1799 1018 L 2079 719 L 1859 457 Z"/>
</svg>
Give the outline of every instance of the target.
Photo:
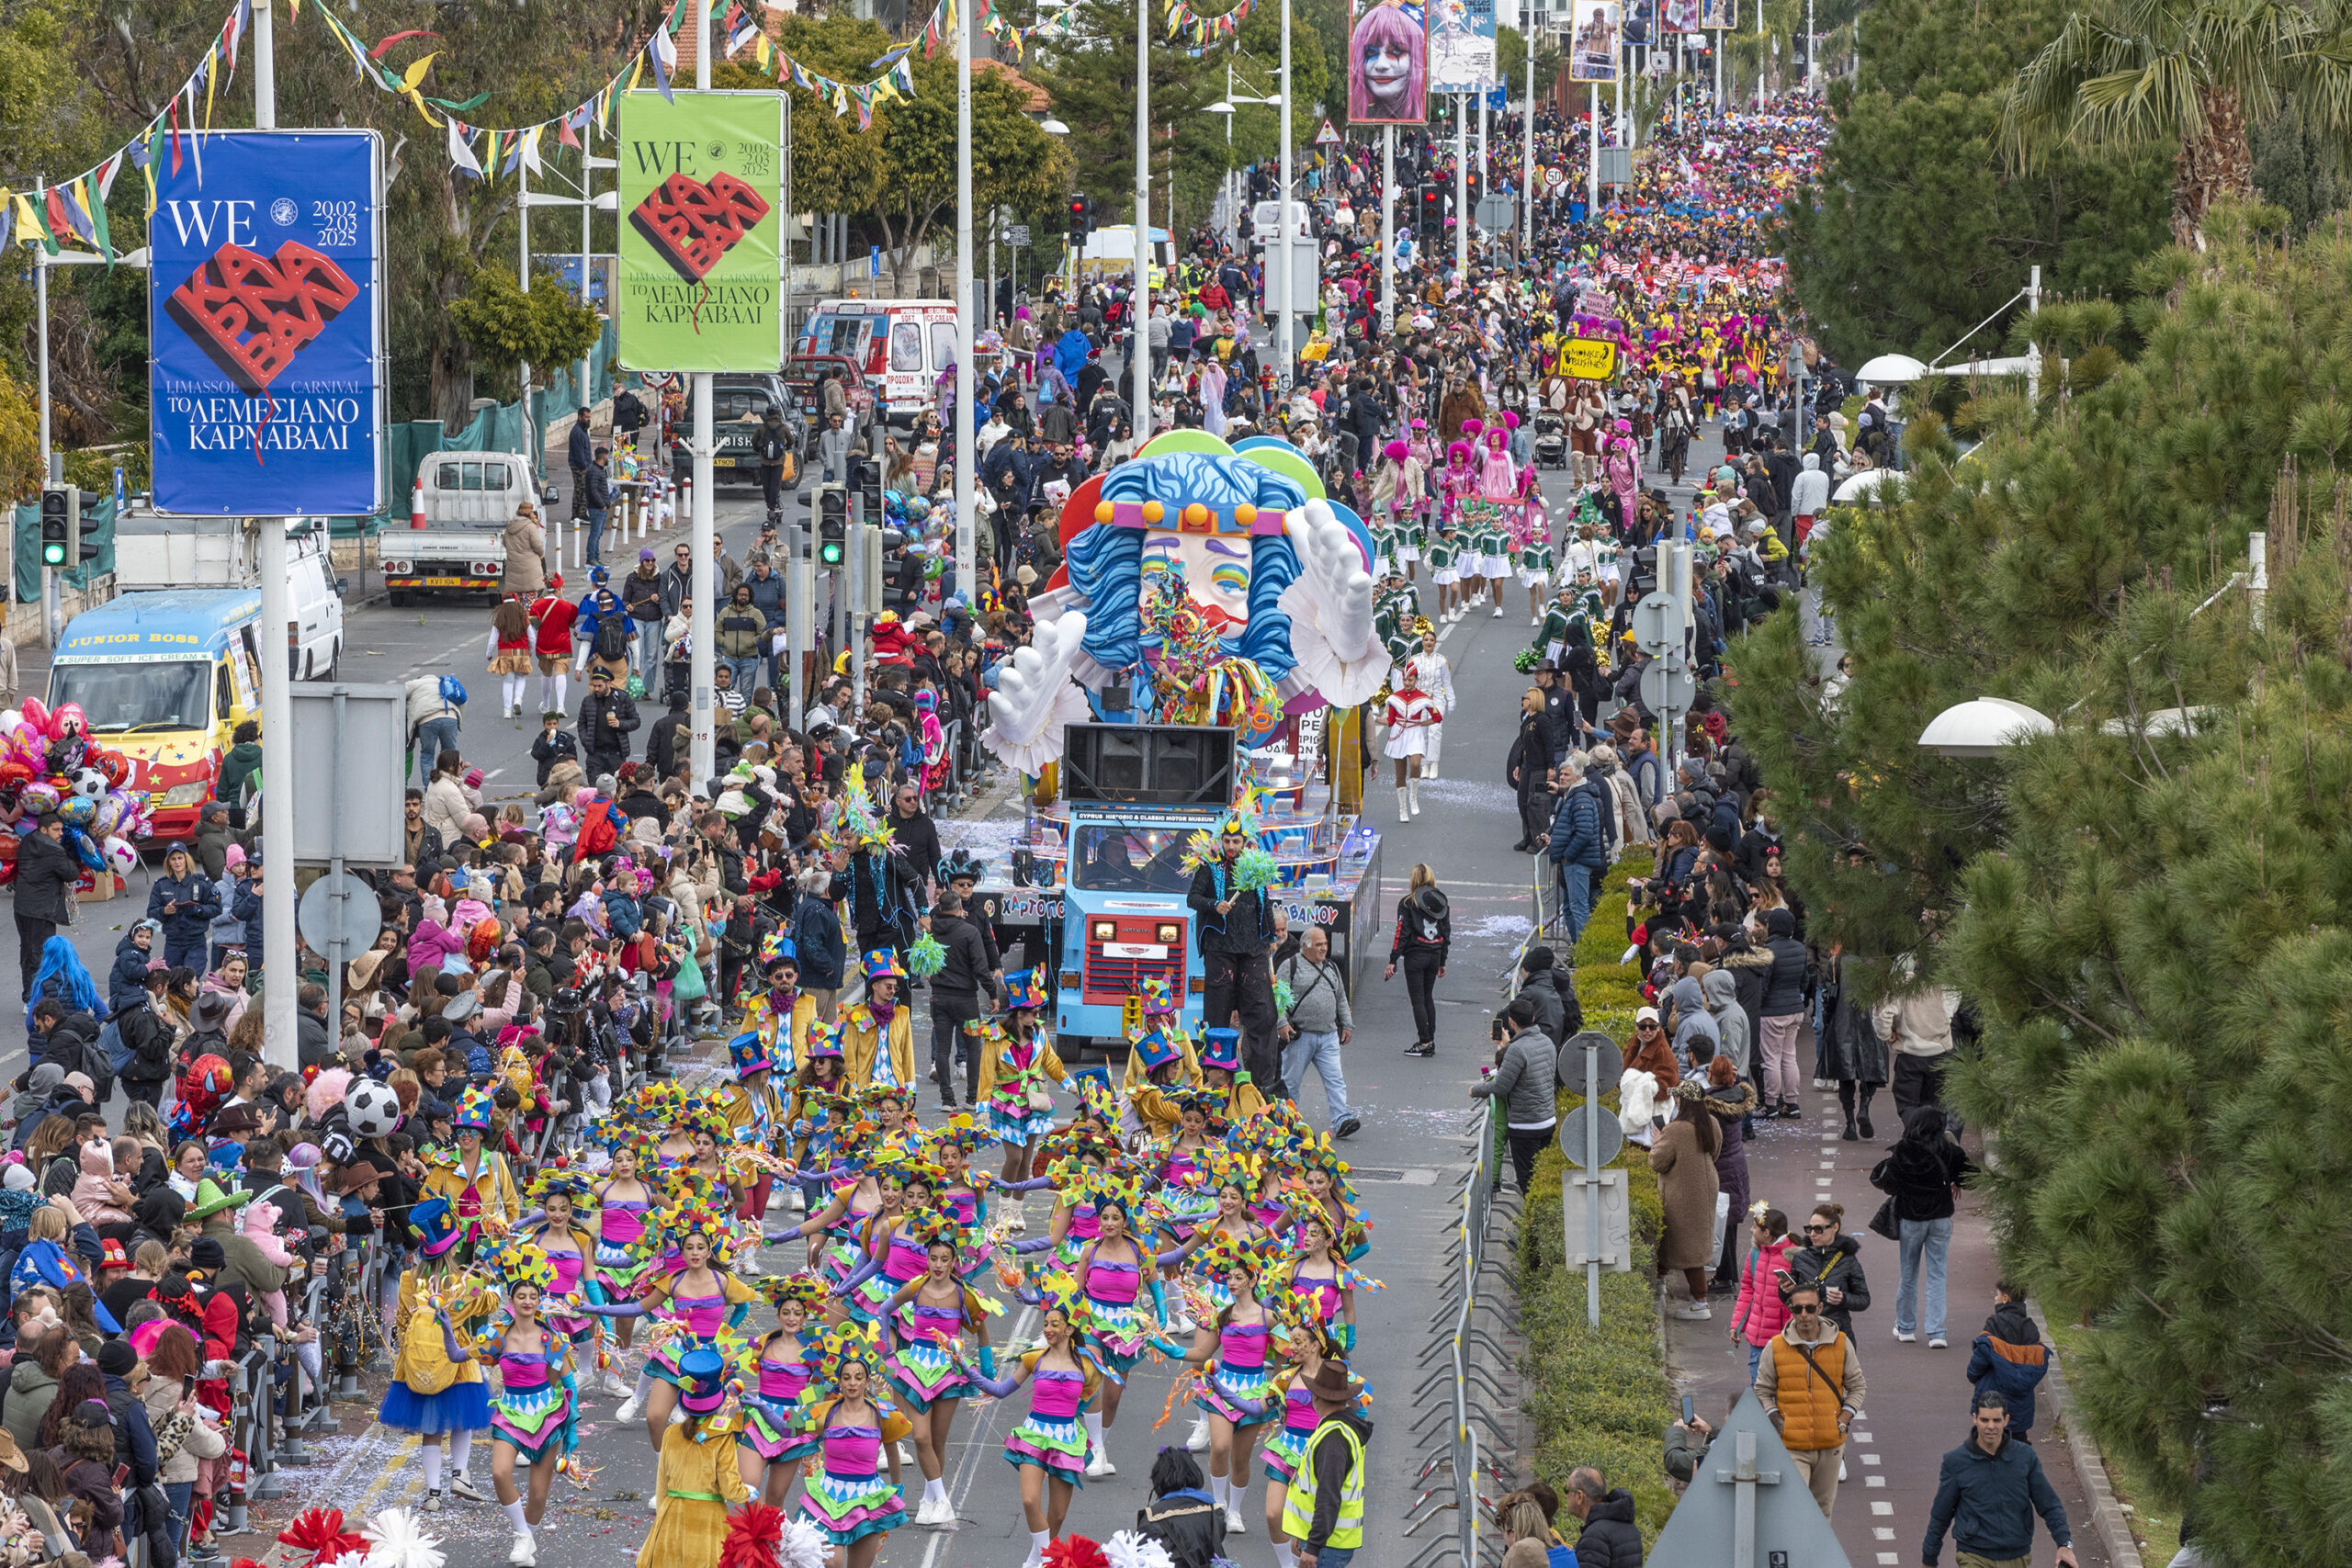
<svg viewBox="0 0 2352 1568">
<path fill-rule="evenodd" d="M 1496 1305 L 1494 1298 L 1484 1293 L 1484 1274 L 1489 1267 L 1501 1267 L 1501 1260 L 1486 1258 L 1486 1220 L 1494 1211 L 1494 1182 L 1498 1171 L 1496 1114 L 1494 1100 L 1482 1100 L 1477 1117 L 1472 1117 L 1468 1126 L 1472 1138 L 1470 1171 L 1463 1178 L 1458 1199 L 1461 1218 L 1454 1227 L 1454 1244 L 1446 1248 L 1454 1284 L 1446 1291 L 1444 1302 L 1437 1307 L 1437 1314 L 1430 1319 L 1432 1340 L 1421 1354 L 1421 1363 L 1432 1371 L 1421 1380 L 1421 1387 L 1414 1389 L 1414 1406 L 1418 1408 L 1418 1415 L 1414 1418 L 1414 1439 L 1421 1441 L 1428 1453 L 1421 1465 L 1418 1493 L 1411 1509 L 1406 1509 L 1404 1535 L 1418 1535 L 1425 1523 L 1446 1509 L 1454 1512 L 1454 1530 L 1423 1547 L 1414 1559 L 1414 1568 L 1437 1568 L 1449 1552 L 1456 1568 L 1479 1568 L 1479 1552 L 1484 1547 L 1494 1547 L 1491 1554 L 1501 1552 L 1498 1540 L 1484 1544 L 1479 1540 L 1479 1427 L 1484 1427 L 1494 1450 L 1508 1453 L 1512 1448 L 1510 1436 L 1496 1425 L 1489 1410 L 1510 1410 L 1517 1399 L 1486 1366 L 1479 1363 L 1479 1345 L 1494 1352 L 1505 1366 L 1510 1363 L 1510 1356 L 1503 1345 L 1475 1321 L 1479 1307 Z M 1477 1408 L 1470 1403 L 1472 1382 L 1479 1385 L 1484 1396 Z M 1432 1399 L 1439 1389 L 1442 1399 Z"/>
</svg>

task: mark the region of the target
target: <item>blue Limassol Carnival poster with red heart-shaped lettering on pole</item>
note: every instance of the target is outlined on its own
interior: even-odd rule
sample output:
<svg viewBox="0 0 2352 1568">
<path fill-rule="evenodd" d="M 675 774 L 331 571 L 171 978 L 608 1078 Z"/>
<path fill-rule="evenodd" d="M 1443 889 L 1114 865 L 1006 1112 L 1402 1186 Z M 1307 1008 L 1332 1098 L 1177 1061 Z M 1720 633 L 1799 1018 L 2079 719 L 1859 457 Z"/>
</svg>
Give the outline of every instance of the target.
<svg viewBox="0 0 2352 1568">
<path fill-rule="evenodd" d="M 148 146 L 155 510 L 383 508 L 383 139 Z"/>
</svg>

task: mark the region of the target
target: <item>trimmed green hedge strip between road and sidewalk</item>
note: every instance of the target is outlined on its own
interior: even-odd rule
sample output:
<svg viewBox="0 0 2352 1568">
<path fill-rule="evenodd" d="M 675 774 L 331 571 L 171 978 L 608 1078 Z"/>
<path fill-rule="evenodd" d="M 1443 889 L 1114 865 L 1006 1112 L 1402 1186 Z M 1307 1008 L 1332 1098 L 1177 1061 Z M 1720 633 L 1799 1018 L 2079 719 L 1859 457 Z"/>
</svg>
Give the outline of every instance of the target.
<svg viewBox="0 0 2352 1568">
<path fill-rule="evenodd" d="M 1642 1006 L 1637 971 L 1621 969 L 1625 952 L 1625 879 L 1639 863 L 1609 872 L 1606 893 L 1576 945 L 1576 999 L 1585 1027 L 1621 1044 L 1632 1039 L 1632 1013 Z M 1583 1095 L 1562 1093 L 1566 1114 Z M 1616 1103 L 1616 1095 L 1604 1095 Z M 1630 1274 L 1602 1274 L 1602 1326 L 1585 1324 L 1583 1269 L 1564 1267 L 1566 1239 L 1559 1213 L 1559 1175 L 1566 1159 L 1557 1147 L 1536 1161 L 1536 1190 L 1519 1211 L 1515 1284 L 1519 1324 L 1526 1333 L 1526 1415 L 1536 1425 L 1531 1469 L 1555 1488 L 1569 1472 L 1597 1465 L 1609 1486 L 1632 1493 L 1642 1540 L 1653 1542 L 1675 1509 L 1661 1465 L 1661 1434 L 1675 1420 L 1675 1389 L 1665 1375 L 1658 1333 L 1656 1244 L 1665 1229 L 1658 1178 L 1644 1150 L 1628 1145 L 1628 1201 L 1632 1208 Z"/>
</svg>

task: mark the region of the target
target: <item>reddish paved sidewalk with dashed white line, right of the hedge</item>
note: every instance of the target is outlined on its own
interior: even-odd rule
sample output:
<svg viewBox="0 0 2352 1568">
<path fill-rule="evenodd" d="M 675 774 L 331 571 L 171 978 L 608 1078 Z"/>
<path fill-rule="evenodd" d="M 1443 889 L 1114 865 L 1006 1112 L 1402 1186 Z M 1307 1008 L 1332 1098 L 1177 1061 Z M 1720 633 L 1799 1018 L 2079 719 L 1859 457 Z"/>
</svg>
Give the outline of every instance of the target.
<svg viewBox="0 0 2352 1568">
<path fill-rule="evenodd" d="M 1811 1063 L 1811 1046 L 1797 1060 Z M 1969 1345 L 1992 1312 L 1992 1232 L 1983 1204 L 1964 1197 L 1952 1222 L 1952 1258 L 1945 1288 L 1945 1340 L 1950 1349 L 1929 1349 L 1926 1309 L 1922 1305 L 1919 1338 L 1898 1345 L 1896 1321 L 1896 1246 L 1870 1234 L 1870 1215 L 1884 1194 L 1870 1185 L 1870 1171 L 1893 1145 L 1896 1110 L 1889 1093 L 1872 1100 L 1875 1140 L 1842 1143 L 1844 1114 L 1835 1088 L 1804 1093 L 1804 1121 L 1759 1121 L 1748 1140 L 1748 1187 L 1766 1204 L 1788 1213 L 1790 1227 L 1804 1225 L 1813 1204 L 1846 1206 L 1846 1232 L 1863 1239 L 1863 1274 L 1870 1281 L 1870 1307 L 1853 1314 L 1853 1340 L 1870 1380 L 1865 1408 L 1846 1443 L 1846 1481 L 1837 1493 L 1837 1540 L 1856 1568 L 1896 1568 L 1919 1563 L 1919 1540 L 1936 1502 L 1936 1476 L 1943 1455 L 1969 1432 Z M 1973 1150 L 1971 1150 L 1973 1152 Z M 1731 1218 L 1740 1225 L 1740 1215 Z M 1745 1255 L 1745 1234 L 1743 1234 Z M 1679 1300 L 1679 1295 L 1677 1295 Z M 1684 1324 L 1665 1319 L 1665 1356 L 1675 1385 L 1698 1401 L 1698 1415 L 1722 1422 L 1724 1410 L 1748 1385 L 1745 1340 L 1733 1349 L 1731 1300 L 1715 1298 L 1715 1321 Z M 2044 1382 L 2049 1389 L 2049 1382 Z M 2074 1554 L 2084 1568 L 2107 1568 L 2107 1554 L 2091 1528 L 2091 1505 L 2082 1476 L 2056 1432 L 2056 1406 L 2044 1392 L 2034 1418 L 2034 1450 L 2051 1486 L 2065 1502 L 2074 1530 Z M 1943 1563 L 1952 1561 L 1945 1537 Z M 2051 1540 L 2034 1530 L 2034 1563 L 2051 1563 Z"/>
</svg>

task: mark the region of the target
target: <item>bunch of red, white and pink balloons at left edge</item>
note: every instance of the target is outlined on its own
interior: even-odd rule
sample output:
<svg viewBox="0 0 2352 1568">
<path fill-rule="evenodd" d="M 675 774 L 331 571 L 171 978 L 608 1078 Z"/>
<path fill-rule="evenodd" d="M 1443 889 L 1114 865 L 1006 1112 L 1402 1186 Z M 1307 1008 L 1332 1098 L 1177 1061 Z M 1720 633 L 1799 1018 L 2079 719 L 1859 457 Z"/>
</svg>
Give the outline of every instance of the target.
<svg viewBox="0 0 2352 1568">
<path fill-rule="evenodd" d="M 66 844 L 94 870 L 127 877 L 139 865 L 136 839 L 155 820 L 146 790 L 127 790 L 132 764 L 89 741 L 80 703 L 52 712 L 40 698 L 0 710 L 0 827 L 24 837 L 42 818 L 66 820 Z M 0 837 L 0 886 L 16 879 L 16 842 Z"/>
</svg>

